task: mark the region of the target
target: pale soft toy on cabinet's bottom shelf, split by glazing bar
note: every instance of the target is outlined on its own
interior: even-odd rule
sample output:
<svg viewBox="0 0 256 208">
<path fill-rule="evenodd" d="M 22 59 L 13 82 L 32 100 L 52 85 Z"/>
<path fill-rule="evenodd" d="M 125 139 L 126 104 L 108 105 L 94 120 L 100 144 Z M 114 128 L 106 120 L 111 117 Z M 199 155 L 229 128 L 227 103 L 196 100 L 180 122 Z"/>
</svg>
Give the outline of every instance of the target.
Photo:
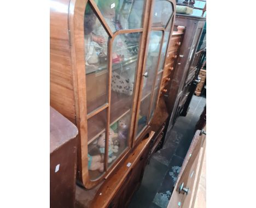
<svg viewBox="0 0 256 208">
<path fill-rule="evenodd" d="M 98 148 L 101 152 L 101 154 L 104 154 L 105 152 L 105 133 L 100 134 L 100 136 L 98 137 L 97 140 L 97 145 Z M 113 146 L 113 141 L 112 141 L 112 137 L 109 137 L 108 140 L 108 163 L 111 163 L 113 160 L 115 160 L 115 158 L 117 158 L 117 156 L 114 155 L 114 152 L 117 152 L 117 148 L 112 148 Z"/>
</svg>

